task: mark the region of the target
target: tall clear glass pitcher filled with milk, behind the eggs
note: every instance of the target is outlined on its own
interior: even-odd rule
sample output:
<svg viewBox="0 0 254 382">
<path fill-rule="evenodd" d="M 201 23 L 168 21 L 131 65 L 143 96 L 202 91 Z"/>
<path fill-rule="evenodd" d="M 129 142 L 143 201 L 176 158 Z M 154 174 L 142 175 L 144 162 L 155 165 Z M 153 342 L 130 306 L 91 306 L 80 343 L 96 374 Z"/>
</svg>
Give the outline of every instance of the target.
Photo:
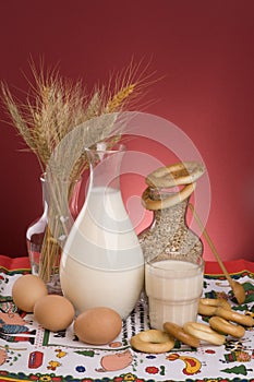
<svg viewBox="0 0 254 382">
<path fill-rule="evenodd" d="M 63 248 L 60 280 L 77 312 L 109 307 L 125 319 L 144 285 L 144 258 L 120 190 L 125 147 L 87 148 L 89 186 Z"/>
</svg>

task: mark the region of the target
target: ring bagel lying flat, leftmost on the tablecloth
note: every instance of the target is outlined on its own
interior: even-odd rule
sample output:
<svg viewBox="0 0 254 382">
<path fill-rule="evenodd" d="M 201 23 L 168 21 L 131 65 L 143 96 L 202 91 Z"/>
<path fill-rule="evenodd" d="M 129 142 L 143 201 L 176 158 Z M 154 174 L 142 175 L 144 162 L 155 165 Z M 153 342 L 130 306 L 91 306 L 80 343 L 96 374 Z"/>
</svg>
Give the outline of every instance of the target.
<svg viewBox="0 0 254 382">
<path fill-rule="evenodd" d="M 174 346 L 174 339 L 168 333 L 157 329 L 137 333 L 131 338 L 130 343 L 136 350 L 155 354 L 169 351 Z"/>
</svg>

